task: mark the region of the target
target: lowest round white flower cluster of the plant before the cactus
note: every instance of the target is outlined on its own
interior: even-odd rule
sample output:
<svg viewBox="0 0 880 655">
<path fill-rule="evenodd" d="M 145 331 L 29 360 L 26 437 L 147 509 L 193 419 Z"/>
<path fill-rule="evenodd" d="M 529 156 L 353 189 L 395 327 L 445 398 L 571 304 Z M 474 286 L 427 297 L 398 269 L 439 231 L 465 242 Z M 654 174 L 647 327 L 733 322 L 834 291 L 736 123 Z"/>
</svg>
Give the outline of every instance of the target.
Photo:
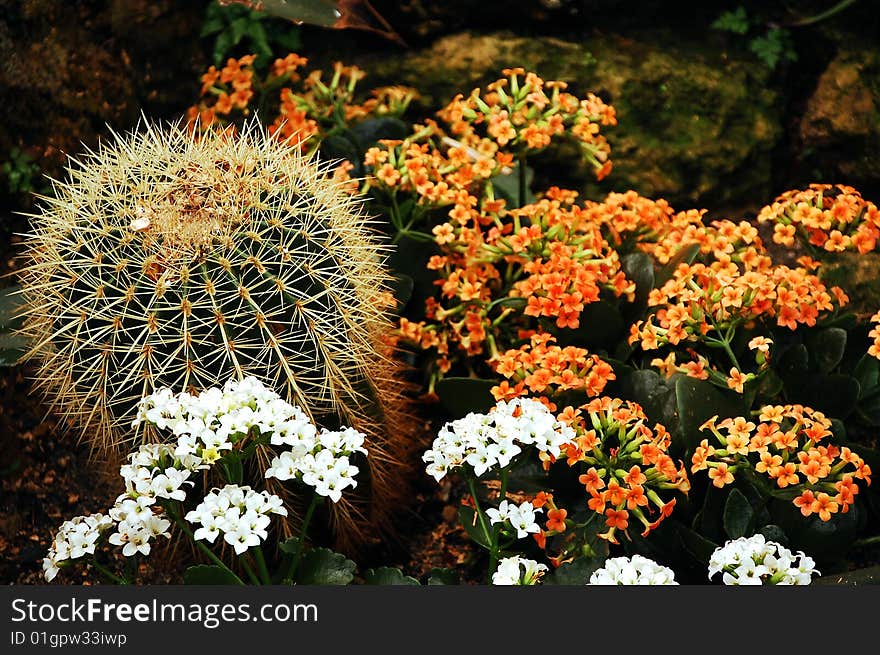
<svg viewBox="0 0 880 655">
<path fill-rule="evenodd" d="M 195 539 L 214 543 L 222 532 L 223 539 L 241 555 L 268 536 L 269 514 L 287 516 L 278 496 L 228 484 L 212 489 L 198 507 L 187 513 L 186 520 L 200 526 L 193 534 Z"/>
</svg>

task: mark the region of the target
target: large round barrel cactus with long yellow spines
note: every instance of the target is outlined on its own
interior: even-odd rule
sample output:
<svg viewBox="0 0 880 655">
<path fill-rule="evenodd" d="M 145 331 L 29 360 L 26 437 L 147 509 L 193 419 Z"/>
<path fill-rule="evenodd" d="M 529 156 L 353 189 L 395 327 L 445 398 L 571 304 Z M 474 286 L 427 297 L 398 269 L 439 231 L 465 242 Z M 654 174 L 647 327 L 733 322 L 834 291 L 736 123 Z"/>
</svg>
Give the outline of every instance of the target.
<svg viewBox="0 0 880 655">
<path fill-rule="evenodd" d="M 49 403 L 103 455 L 160 387 L 254 375 L 327 427 L 368 436 L 368 503 L 393 506 L 407 427 L 384 248 L 327 165 L 263 132 L 146 124 L 113 134 L 53 182 L 32 215 L 25 331 Z M 362 494 L 363 495 L 363 494 Z"/>
</svg>

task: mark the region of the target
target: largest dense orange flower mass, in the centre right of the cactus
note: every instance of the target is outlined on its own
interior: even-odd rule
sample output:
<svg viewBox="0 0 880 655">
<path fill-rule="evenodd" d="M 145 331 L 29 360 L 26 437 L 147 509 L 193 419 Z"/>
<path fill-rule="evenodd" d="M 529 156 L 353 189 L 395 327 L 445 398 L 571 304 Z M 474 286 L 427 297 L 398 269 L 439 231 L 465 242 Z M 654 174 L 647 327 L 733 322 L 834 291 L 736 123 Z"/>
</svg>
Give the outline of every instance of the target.
<svg viewBox="0 0 880 655">
<path fill-rule="evenodd" d="M 494 367 L 499 352 L 546 332 L 545 322 L 580 326 L 584 307 L 603 292 L 632 297 L 635 285 L 621 271 L 617 252 L 574 204 L 576 197 L 553 188 L 507 211 L 491 198 L 481 203 L 456 192 L 452 220 L 433 230 L 442 254 L 428 262 L 440 277 L 440 299 L 430 299 L 426 311 L 431 323 L 405 321 L 399 331 L 411 344 L 438 349 L 432 381 L 449 369 L 450 353 L 472 357 L 486 347 Z M 603 371 L 595 375 L 605 377 Z M 517 383 L 502 383 L 499 392 L 513 393 Z M 589 384 L 598 389 L 598 378 Z"/>
</svg>

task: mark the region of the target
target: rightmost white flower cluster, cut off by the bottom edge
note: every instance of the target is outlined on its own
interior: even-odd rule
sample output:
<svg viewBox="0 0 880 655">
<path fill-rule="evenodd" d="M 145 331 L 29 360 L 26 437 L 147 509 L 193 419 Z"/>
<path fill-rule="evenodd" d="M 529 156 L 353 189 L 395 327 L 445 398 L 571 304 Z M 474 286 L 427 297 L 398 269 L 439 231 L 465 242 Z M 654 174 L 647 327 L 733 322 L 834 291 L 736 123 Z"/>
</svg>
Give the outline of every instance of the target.
<svg viewBox="0 0 880 655">
<path fill-rule="evenodd" d="M 816 563 L 803 551 L 795 556 L 762 534 L 740 537 L 717 548 L 709 558 L 709 578 L 718 573 L 726 585 L 808 585 L 813 575 L 819 575 Z"/>
</svg>

